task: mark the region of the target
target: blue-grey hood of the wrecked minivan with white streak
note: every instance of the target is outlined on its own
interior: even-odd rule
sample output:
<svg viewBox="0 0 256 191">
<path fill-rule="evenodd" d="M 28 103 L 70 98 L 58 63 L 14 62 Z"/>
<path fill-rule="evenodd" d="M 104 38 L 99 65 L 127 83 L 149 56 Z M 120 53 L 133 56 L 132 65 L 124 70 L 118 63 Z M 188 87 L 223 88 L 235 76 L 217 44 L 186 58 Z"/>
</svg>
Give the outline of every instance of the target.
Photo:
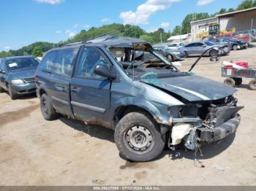
<svg viewBox="0 0 256 191">
<path fill-rule="evenodd" d="M 233 87 L 197 76 L 141 79 L 141 81 L 180 95 L 188 101 L 217 100 L 236 93 Z"/>
</svg>

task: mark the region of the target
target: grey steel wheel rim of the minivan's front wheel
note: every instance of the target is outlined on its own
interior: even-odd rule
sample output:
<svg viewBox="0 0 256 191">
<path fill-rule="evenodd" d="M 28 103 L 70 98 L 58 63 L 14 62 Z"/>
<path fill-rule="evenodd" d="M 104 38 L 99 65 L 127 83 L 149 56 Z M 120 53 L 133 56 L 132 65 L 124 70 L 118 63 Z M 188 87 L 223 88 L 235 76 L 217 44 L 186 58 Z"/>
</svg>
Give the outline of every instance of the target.
<svg viewBox="0 0 256 191">
<path fill-rule="evenodd" d="M 127 130 L 126 141 L 132 149 L 136 151 L 145 151 L 151 147 L 153 143 L 153 136 L 148 128 L 138 125 Z"/>
</svg>

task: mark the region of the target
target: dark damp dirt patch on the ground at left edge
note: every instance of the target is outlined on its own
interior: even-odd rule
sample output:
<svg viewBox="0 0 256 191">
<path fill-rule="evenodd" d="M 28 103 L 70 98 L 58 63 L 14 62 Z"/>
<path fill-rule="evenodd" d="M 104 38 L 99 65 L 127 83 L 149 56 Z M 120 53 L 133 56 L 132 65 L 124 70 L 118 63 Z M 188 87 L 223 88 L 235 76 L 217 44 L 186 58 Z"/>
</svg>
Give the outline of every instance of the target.
<svg viewBox="0 0 256 191">
<path fill-rule="evenodd" d="M 23 109 L 19 109 L 13 112 L 5 112 L 0 114 L 0 127 L 10 123 L 21 120 L 28 117 L 31 112 L 34 112 L 38 108 L 38 105 L 31 105 Z"/>
</svg>

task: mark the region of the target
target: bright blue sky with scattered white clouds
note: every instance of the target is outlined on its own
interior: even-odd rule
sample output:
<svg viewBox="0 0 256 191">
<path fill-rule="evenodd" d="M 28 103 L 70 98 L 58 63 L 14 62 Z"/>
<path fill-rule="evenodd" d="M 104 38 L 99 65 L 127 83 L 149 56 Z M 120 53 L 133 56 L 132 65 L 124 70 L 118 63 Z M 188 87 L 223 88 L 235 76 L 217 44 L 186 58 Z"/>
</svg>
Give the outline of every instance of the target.
<svg viewBox="0 0 256 191">
<path fill-rule="evenodd" d="M 241 0 L 1 0 L 0 51 L 38 41 L 59 42 L 91 26 L 110 23 L 166 31 L 192 12 L 212 14 Z"/>
</svg>

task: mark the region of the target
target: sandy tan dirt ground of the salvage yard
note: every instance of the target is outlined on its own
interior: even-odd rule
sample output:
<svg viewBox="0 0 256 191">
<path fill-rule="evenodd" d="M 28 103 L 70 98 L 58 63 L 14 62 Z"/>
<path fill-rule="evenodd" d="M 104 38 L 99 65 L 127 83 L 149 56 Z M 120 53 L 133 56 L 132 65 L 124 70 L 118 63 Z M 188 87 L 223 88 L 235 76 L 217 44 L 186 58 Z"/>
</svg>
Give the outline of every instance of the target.
<svg viewBox="0 0 256 191">
<path fill-rule="evenodd" d="M 203 58 L 197 75 L 223 82 L 222 61 L 248 61 L 256 66 L 256 48 L 232 51 L 213 63 Z M 196 58 L 187 58 L 183 71 Z M 113 131 L 60 117 L 48 122 L 35 95 L 12 101 L 0 94 L 1 185 L 256 185 L 256 91 L 249 79 L 238 87 L 244 105 L 235 136 L 194 152 L 165 149 L 157 160 L 129 163 L 118 153 Z"/>
</svg>

